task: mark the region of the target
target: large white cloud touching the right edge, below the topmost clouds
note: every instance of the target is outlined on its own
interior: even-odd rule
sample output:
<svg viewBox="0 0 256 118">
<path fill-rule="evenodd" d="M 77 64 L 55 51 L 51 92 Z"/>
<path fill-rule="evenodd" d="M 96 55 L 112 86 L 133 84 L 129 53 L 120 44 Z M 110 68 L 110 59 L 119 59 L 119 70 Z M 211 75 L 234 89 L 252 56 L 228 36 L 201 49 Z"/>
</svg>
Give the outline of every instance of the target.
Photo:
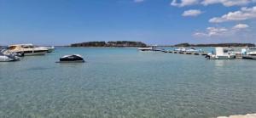
<svg viewBox="0 0 256 118">
<path fill-rule="evenodd" d="M 236 12 L 230 12 L 224 14 L 221 17 L 214 17 L 209 22 L 211 23 L 222 23 L 226 21 L 238 21 L 238 20 L 249 20 L 256 18 L 256 6 L 253 8 L 241 8 L 241 10 Z"/>
</svg>

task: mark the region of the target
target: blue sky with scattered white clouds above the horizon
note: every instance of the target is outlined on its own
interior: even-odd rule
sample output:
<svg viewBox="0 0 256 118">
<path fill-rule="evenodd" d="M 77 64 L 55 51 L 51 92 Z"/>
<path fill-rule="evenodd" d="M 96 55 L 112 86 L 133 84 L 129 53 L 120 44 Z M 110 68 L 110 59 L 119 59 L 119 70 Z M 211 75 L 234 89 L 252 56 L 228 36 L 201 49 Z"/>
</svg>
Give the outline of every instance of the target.
<svg viewBox="0 0 256 118">
<path fill-rule="evenodd" d="M 0 0 L 0 45 L 256 43 L 256 0 Z"/>
</svg>

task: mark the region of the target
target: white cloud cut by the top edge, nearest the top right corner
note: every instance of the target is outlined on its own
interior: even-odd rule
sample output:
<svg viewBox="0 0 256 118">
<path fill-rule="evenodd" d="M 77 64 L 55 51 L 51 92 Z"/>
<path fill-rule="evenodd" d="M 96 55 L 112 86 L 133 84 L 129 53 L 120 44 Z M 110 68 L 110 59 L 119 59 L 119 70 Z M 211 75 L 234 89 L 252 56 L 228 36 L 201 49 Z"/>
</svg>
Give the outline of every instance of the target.
<svg viewBox="0 0 256 118">
<path fill-rule="evenodd" d="M 252 3 L 254 0 L 203 0 L 201 3 L 203 5 L 209 5 L 214 3 L 222 3 L 226 7 L 230 6 L 240 6 L 247 5 L 248 3 Z"/>
</svg>

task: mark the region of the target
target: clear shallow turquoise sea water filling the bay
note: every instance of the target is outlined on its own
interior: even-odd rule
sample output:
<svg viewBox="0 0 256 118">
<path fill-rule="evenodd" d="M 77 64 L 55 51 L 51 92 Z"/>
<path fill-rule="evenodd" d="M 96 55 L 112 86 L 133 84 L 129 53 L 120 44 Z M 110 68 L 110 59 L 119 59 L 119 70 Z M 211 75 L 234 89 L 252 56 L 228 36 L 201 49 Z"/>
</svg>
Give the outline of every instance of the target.
<svg viewBox="0 0 256 118">
<path fill-rule="evenodd" d="M 56 64 L 79 53 L 84 64 Z M 57 48 L 0 63 L 1 118 L 207 118 L 256 113 L 256 61 Z"/>
</svg>

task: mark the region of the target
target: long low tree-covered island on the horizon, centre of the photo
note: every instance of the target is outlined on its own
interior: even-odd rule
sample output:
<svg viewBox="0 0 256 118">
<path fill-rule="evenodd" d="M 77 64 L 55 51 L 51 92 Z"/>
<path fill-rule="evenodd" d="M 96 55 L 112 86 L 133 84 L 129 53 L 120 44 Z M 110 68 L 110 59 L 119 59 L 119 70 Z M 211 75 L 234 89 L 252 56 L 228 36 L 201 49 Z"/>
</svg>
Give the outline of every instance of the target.
<svg viewBox="0 0 256 118">
<path fill-rule="evenodd" d="M 70 45 L 71 47 L 147 47 L 143 42 L 116 41 L 116 42 L 80 42 Z"/>
</svg>

